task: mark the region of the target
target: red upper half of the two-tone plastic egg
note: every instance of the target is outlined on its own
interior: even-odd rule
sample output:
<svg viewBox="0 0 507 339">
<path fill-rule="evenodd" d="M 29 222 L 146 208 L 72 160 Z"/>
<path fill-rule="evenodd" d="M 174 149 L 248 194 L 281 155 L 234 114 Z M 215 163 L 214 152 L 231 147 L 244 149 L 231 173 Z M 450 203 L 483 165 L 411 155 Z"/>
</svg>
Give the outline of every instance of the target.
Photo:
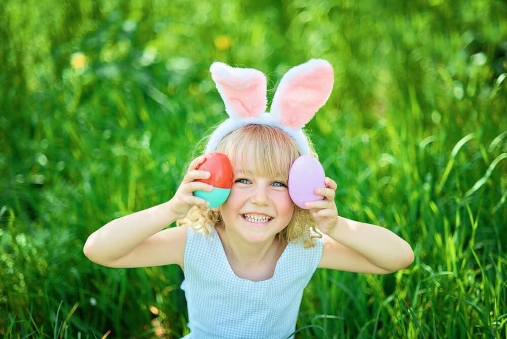
<svg viewBox="0 0 507 339">
<path fill-rule="evenodd" d="M 234 174 L 232 171 L 232 164 L 229 157 L 222 152 L 211 152 L 205 156 L 196 169 L 200 171 L 208 171 L 211 173 L 209 179 L 197 179 L 218 188 L 231 188 Z"/>
</svg>

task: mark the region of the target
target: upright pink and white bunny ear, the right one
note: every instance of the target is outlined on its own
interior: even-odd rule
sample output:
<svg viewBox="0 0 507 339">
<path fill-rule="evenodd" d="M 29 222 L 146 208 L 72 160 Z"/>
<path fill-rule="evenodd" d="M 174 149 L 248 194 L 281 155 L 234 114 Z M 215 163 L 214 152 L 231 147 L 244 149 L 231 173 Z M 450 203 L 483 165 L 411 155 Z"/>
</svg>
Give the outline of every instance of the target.
<svg viewBox="0 0 507 339">
<path fill-rule="evenodd" d="M 326 60 L 312 59 L 293 67 L 278 85 L 270 114 L 281 125 L 303 127 L 328 100 L 333 78 L 333 67 Z"/>
</svg>

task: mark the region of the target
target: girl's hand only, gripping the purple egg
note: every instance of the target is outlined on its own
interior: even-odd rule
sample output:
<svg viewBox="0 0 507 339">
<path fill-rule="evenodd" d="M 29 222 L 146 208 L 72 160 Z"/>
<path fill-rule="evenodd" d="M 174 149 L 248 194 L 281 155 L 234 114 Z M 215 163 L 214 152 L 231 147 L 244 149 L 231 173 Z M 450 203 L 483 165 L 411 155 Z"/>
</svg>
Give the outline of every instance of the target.
<svg viewBox="0 0 507 339">
<path fill-rule="evenodd" d="M 315 194 L 324 197 L 323 200 L 307 201 L 305 207 L 310 210 L 318 229 L 328 234 L 338 225 L 338 210 L 335 204 L 335 191 L 338 187 L 331 178 L 325 177 L 325 188 L 316 188 Z"/>
</svg>

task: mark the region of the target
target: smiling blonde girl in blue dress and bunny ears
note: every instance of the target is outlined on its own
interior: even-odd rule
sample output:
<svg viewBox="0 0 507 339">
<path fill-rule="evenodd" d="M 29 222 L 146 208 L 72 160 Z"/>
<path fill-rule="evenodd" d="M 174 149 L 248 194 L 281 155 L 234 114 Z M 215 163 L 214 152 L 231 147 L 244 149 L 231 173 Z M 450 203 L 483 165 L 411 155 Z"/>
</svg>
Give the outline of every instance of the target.
<svg viewBox="0 0 507 339">
<path fill-rule="evenodd" d="M 337 184 L 325 178 L 323 199 L 297 207 L 289 196 L 292 163 L 315 152 L 302 127 L 327 101 L 333 69 L 310 60 L 289 70 L 266 110 L 266 78 L 215 62 L 210 68 L 230 118 L 211 134 L 205 154 L 227 154 L 234 169 L 218 208 L 193 192 L 204 156 L 194 159 L 174 196 L 113 220 L 91 234 L 84 252 L 110 267 L 178 264 L 185 273 L 192 338 L 287 338 L 296 328 L 305 286 L 317 267 L 388 274 L 414 254 L 386 228 L 338 216 Z M 309 176 L 312 173 L 308 173 Z M 179 227 L 166 227 L 179 221 Z"/>
</svg>

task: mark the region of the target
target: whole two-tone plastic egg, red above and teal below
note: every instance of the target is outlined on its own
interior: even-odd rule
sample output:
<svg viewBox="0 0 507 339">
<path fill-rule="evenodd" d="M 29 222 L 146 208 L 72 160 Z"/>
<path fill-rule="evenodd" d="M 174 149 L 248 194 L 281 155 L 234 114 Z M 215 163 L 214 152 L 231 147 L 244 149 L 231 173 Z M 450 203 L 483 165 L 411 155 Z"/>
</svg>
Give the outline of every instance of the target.
<svg viewBox="0 0 507 339">
<path fill-rule="evenodd" d="M 194 195 L 209 201 L 209 208 L 219 207 L 231 193 L 232 180 L 234 178 L 231 160 L 222 152 L 211 152 L 206 154 L 204 161 L 197 168 L 200 171 L 207 171 L 211 174 L 208 179 L 198 179 L 213 186 L 211 192 L 197 190 Z"/>
</svg>

